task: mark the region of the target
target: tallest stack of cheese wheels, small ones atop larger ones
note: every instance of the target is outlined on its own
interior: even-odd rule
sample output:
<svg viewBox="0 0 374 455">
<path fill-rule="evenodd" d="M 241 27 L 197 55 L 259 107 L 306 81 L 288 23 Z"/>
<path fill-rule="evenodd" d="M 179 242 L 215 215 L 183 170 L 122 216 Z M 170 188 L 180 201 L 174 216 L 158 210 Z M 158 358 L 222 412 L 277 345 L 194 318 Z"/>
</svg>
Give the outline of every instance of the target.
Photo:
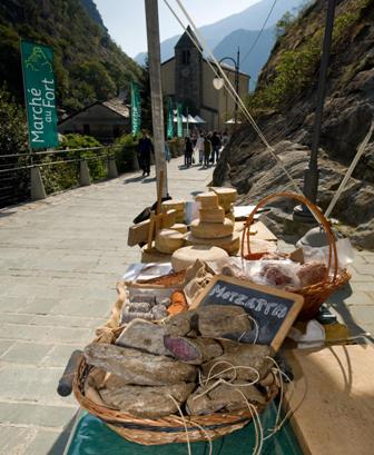
<svg viewBox="0 0 374 455">
<path fill-rule="evenodd" d="M 185 236 L 187 245 L 216 246 L 235 255 L 240 247 L 240 236 L 234 233 L 234 222 L 225 217 L 218 195 L 201 192 L 196 200 L 200 202 L 199 218 L 190 224 L 190 233 Z"/>
</svg>

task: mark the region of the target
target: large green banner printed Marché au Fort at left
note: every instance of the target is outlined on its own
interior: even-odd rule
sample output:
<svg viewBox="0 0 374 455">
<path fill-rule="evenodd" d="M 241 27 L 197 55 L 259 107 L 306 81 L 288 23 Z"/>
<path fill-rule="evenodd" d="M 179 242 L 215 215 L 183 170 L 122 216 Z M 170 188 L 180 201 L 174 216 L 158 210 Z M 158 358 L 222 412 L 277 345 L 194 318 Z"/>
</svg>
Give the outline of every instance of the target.
<svg viewBox="0 0 374 455">
<path fill-rule="evenodd" d="M 24 99 L 32 149 L 58 146 L 53 49 L 21 41 Z"/>
</svg>

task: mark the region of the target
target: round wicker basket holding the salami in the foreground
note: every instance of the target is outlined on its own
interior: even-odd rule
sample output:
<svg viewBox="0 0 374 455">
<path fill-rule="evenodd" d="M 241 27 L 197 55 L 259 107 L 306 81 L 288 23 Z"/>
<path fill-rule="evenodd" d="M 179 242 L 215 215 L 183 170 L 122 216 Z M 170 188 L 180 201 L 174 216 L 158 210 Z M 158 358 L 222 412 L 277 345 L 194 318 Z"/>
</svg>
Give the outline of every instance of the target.
<svg viewBox="0 0 374 455">
<path fill-rule="evenodd" d="M 116 338 L 120 332 L 121 328 L 114 330 L 114 337 Z M 94 343 L 102 342 L 106 342 L 105 337 L 99 337 Z M 185 424 L 178 415 L 157 419 L 139 418 L 100 406 L 87 398 L 85 396 L 85 383 L 91 370 L 92 367 L 82 359 L 72 383 L 72 390 L 80 406 L 100 418 L 109 428 L 124 438 L 142 445 L 187 443 Z M 279 386 L 277 383 L 266 387 L 266 404 L 263 406 L 257 405 L 257 412 L 264 411 L 273 398 L 277 396 L 278 392 Z M 215 439 L 225 436 L 243 428 L 250 419 L 252 414 L 248 408 L 229 414 L 217 413 L 204 416 L 186 416 L 185 423 L 188 429 L 188 441 L 190 443 L 206 442 L 209 438 Z M 204 431 L 201 431 L 201 427 Z"/>
</svg>

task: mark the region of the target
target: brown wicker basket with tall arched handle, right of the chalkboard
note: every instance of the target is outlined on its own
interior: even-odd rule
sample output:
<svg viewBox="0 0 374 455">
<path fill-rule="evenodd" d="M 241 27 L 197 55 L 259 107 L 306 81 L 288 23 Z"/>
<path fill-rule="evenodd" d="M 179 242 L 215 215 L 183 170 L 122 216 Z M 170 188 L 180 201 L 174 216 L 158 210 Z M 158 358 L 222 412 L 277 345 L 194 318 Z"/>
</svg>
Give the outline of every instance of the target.
<svg viewBox="0 0 374 455">
<path fill-rule="evenodd" d="M 242 237 L 243 257 L 245 259 L 250 259 L 250 260 L 260 258 L 262 255 L 256 254 L 256 256 L 254 256 L 250 253 L 249 227 L 253 224 L 255 214 L 258 211 L 258 209 L 264 207 L 268 201 L 273 199 L 278 199 L 278 198 L 292 198 L 292 199 L 296 199 L 301 201 L 302 204 L 304 204 L 315 215 L 316 219 L 323 226 L 325 234 L 327 236 L 328 265 L 327 265 L 327 271 L 326 271 L 326 276 L 324 280 L 315 285 L 306 286 L 304 288 L 301 288 L 294 291 L 295 294 L 299 294 L 301 296 L 304 297 L 304 305 L 303 305 L 303 308 L 297 319 L 298 320 L 309 320 L 316 316 L 321 305 L 336 289 L 338 289 L 339 287 L 344 286 L 346 283 L 348 283 L 348 280 L 351 279 L 351 275 L 347 273 L 346 269 L 339 270 L 339 274 L 337 274 L 337 253 L 336 253 L 335 237 L 323 212 L 318 209 L 317 206 L 315 206 L 308 199 L 306 199 L 303 196 L 295 195 L 293 192 L 278 192 L 275 195 L 270 195 L 270 196 L 265 197 L 257 204 L 257 206 L 254 208 L 252 214 L 248 216 L 246 226 L 243 231 L 243 237 Z M 246 247 L 246 251 L 248 251 L 247 254 L 243 253 L 245 251 L 245 247 Z"/>
</svg>

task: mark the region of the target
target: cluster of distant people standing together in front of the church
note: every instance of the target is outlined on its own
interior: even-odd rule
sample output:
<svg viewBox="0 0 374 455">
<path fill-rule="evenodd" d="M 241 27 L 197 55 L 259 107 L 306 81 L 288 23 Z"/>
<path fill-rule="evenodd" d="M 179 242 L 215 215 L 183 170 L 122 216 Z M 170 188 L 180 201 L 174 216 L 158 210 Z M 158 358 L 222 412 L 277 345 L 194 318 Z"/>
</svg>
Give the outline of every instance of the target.
<svg viewBox="0 0 374 455">
<path fill-rule="evenodd" d="M 193 133 L 191 137 L 185 138 L 185 166 L 190 167 L 195 160 L 195 152 L 198 162 L 204 168 L 208 168 L 218 161 L 220 151 L 228 144 L 227 131 L 224 132 L 204 132 Z"/>
</svg>

